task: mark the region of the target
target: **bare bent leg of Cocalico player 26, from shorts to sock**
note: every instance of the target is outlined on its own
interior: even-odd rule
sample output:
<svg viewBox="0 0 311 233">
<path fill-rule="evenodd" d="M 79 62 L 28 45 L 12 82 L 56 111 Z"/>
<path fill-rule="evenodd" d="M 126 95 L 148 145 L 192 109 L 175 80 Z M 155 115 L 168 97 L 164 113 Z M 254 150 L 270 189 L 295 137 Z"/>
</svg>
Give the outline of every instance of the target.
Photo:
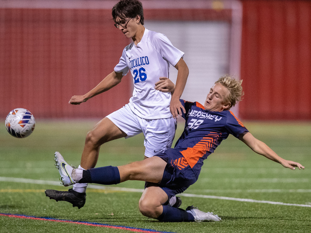
<svg viewBox="0 0 311 233">
<path fill-rule="evenodd" d="M 86 135 L 81 167 L 84 169 L 94 168 L 98 160 L 100 146 L 105 142 L 125 136 L 126 133 L 107 117 L 99 121 Z"/>
</svg>

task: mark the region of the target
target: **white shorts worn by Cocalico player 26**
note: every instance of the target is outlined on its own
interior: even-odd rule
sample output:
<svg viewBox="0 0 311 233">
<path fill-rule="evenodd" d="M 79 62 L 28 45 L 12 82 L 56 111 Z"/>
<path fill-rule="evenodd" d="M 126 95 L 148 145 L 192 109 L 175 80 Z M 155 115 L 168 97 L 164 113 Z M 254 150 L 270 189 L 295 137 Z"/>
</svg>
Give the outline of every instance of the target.
<svg viewBox="0 0 311 233">
<path fill-rule="evenodd" d="M 152 157 L 155 154 L 163 153 L 171 148 L 177 126 L 176 120 L 164 119 L 143 119 L 138 117 L 128 104 L 107 116 L 120 130 L 130 138 L 143 133 L 145 136 L 145 156 Z"/>
</svg>

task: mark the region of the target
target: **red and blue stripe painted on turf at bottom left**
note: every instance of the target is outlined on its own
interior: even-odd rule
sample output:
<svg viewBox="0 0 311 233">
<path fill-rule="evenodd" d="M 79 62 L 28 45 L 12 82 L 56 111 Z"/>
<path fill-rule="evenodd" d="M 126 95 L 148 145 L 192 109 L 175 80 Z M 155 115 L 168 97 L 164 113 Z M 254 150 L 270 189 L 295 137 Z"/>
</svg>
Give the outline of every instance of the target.
<svg viewBox="0 0 311 233">
<path fill-rule="evenodd" d="M 75 223 L 75 224 L 82 224 L 82 225 L 88 225 L 88 226 L 102 226 L 102 227 L 107 227 L 107 228 L 129 230 L 129 231 L 134 231 L 134 232 L 174 233 L 170 231 L 156 231 L 153 229 L 137 228 L 137 227 L 131 227 L 131 226 L 118 226 L 118 225 L 115 226 L 115 225 L 109 225 L 109 224 L 98 223 L 98 222 L 74 221 L 74 220 L 58 219 L 58 218 L 52 218 L 52 217 L 35 217 L 35 216 L 29 216 L 29 215 L 23 215 L 23 214 L 0 213 L 0 216 L 24 218 L 24 219 L 31 219 L 31 220 L 43 220 L 43 221 L 46 220 L 46 221 L 53 221 L 53 222 L 67 222 L 67 223 Z"/>
</svg>

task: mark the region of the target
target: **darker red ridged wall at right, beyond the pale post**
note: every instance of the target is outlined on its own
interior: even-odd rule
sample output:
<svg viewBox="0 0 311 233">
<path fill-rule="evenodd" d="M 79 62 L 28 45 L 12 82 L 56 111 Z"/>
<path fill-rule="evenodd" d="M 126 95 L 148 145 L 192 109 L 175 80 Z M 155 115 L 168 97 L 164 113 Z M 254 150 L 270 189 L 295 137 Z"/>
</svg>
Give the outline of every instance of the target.
<svg viewBox="0 0 311 233">
<path fill-rule="evenodd" d="M 243 1 L 239 116 L 311 120 L 311 1 Z"/>
</svg>

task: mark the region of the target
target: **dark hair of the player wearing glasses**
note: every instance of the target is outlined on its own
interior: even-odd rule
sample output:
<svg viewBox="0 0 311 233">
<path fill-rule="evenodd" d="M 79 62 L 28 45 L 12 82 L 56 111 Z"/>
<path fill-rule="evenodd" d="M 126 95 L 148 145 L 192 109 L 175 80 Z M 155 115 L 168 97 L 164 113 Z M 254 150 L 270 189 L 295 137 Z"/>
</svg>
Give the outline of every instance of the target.
<svg viewBox="0 0 311 233">
<path fill-rule="evenodd" d="M 115 21 L 117 17 L 120 19 L 135 18 L 140 15 L 140 23 L 144 25 L 144 11 L 142 3 L 138 0 L 121 0 L 112 8 L 112 18 Z"/>
</svg>

